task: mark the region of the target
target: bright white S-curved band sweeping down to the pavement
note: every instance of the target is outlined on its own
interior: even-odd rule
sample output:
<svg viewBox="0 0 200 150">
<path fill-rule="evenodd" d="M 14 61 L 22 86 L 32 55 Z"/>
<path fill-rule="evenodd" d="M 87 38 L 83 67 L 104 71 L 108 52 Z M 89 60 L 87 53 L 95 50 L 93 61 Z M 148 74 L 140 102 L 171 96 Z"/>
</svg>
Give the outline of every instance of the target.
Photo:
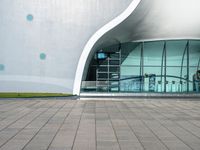
<svg viewBox="0 0 200 150">
<path fill-rule="evenodd" d="M 77 70 L 76 70 L 76 76 L 74 80 L 74 87 L 73 87 L 73 94 L 79 95 L 80 94 L 80 87 L 81 87 L 81 81 L 82 76 L 84 72 L 84 68 L 86 65 L 86 61 L 88 59 L 88 56 L 95 45 L 95 43 L 108 31 L 119 25 L 121 22 L 123 22 L 128 16 L 131 15 L 131 13 L 135 10 L 135 8 L 138 6 L 141 0 L 133 0 L 131 4 L 128 6 L 128 8 L 120 14 L 118 17 L 110 21 L 108 24 L 104 25 L 102 28 L 100 28 L 87 42 L 85 45 L 83 52 L 81 54 L 81 57 L 78 62 Z"/>
</svg>

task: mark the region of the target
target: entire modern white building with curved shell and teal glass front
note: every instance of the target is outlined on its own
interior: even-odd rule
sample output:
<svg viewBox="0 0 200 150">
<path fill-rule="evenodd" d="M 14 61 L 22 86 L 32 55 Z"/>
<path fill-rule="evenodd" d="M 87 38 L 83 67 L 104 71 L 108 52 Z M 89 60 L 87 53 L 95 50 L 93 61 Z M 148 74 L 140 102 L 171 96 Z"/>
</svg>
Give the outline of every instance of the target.
<svg viewBox="0 0 200 150">
<path fill-rule="evenodd" d="M 0 92 L 200 93 L 198 0 L 1 0 Z"/>
</svg>

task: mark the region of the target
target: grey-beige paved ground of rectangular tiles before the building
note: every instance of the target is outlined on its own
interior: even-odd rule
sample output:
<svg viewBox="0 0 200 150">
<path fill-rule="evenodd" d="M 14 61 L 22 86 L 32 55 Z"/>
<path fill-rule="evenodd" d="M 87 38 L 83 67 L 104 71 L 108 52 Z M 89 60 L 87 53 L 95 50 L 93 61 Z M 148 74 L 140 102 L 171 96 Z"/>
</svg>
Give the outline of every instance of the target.
<svg viewBox="0 0 200 150">
<path fill-rule="evenodd" d="M 200 101 L 0 100 L 0 150 L 200 150 Z"/>
</svg>

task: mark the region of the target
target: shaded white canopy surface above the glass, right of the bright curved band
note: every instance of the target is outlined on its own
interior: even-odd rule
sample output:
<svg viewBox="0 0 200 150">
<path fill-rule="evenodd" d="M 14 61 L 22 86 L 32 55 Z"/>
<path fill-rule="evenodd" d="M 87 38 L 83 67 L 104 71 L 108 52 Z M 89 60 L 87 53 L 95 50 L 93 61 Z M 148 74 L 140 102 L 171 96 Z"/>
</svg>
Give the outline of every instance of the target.
<svg viewBox="0 0 200 150">
<path fill-rule="evenodd" d="M 137 3 L 133 1 L 132 4 L 134 2 Z M 91 57 L 102 47 L 130 41 L 200 39 L 199 4 L 197 0 L 141 0 L 137 7 L 132 7 L 132 13 L 123 22 L 94 44 L 88 54 L 84 71 L 87 71 Z M 79 76 L 84 77 L 86 73 Z"/>
</svg>

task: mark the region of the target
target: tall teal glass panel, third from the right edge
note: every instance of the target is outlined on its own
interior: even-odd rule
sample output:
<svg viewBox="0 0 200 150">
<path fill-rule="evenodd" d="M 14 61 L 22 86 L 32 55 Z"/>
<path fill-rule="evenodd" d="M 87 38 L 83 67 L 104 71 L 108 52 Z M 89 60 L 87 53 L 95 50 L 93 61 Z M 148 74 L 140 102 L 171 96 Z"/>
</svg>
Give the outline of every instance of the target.
<svg viewBox="0 0 200 150">
<path fill-rule="evenodd" d="M 144 43 L 145 92 L 162 92 L 164 90 L 163 84 L 161 83 L 163 46 L 163 41 Z"/>
</svg>

